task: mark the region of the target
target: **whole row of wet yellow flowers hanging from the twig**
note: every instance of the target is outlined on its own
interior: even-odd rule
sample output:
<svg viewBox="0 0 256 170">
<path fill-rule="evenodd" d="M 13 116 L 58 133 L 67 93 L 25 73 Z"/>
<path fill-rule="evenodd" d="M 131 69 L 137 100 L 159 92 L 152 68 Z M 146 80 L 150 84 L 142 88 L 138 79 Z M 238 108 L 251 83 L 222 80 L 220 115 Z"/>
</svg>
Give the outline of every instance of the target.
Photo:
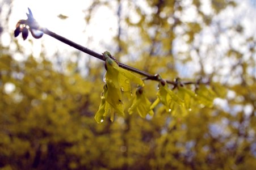
<svg viewBox="0 0 256 170">
<path fill-rule="evenodd" d="M 131 107 L 128 109 L 128 113 L 139 113 L 143 118 L 147 114 L 153 116 L 153 109 L 162 103 L 165 105 L 167 112 L 181 111 L 182 114 L 186 114 L 187 111 L 191 111 L 190 103 L 192 100 L 198 101 L 206 106 L 211 107 L 212 101 L 215 97 L 214 92 L 207 87 L 200 87 L 198 93 L 188 90 L 184 87 L 179 87 L 177 93 L 170 90 L 167 83 L 164 80 L 159 81 L 157 99 L 153 104 L 146 98 L 143 90 L 144 82 L 136 75 L 132 74 L 128 70 L 119 67 L 117 61 L 111 56 L 109 52 L 103 53 L 105 59 L 106 75 L 104 76 L 104 88 L 101 94 L 101 103 L 98 112 L 95 114 L 95 120 L 98 123 L 104 121 L 104 117 L 110 113 L 110 120 L 114 121 L 114 111 L 121 116 L 124 116 L 124 107 L 122 93 L 131 96 L 130 81 L 138 85 L 136 94 L 132 97 Z M 212 94 L 212 95 L 209 95 Z"/>
</svg>

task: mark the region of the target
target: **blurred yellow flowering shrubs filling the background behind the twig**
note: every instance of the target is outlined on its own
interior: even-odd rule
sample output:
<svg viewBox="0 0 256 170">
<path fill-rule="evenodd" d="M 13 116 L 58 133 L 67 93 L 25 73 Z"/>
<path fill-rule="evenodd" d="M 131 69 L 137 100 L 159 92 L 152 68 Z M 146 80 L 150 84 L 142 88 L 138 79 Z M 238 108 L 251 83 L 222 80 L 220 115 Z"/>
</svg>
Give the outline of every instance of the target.
<svg viewBox="0 0 256 170">
<path fill-rule="evenodd" d="M 115 56 L 138 52 L 136 59 L 127 59 L 129 65 L 173 79 L 180 75 L 177 62 L 192 60 L 190 52 L 173 52 L 174 41 L 187 37 L 186 46 L 199 56 L 200 66 L 190 79 L 208 78 L 211 89 L 192 85 L 175 89 L 184 101 L 191 101 L 185 103 L 186 114 L 182 109 L 168 112 L 160 104 L 154 116 L 125 114 L 115 116 L 114 122 L 106 119 L 97 124 L 94 115 L 104 84 L 102 63 L 86 63 L 88 74 L 82 77 L 72 61 L 69 71 L 57 71 L 43 54 L 38 61 L 30 56 L 18 62 L 1 46 L 0 169 L 256 169 L 256 83 L 250 72 L 256 63 L 251 46 L 255 39 L 243 42 L 245 52 L 229 46 L 224 53 L 223 58 L 234 61 L 229 75 L 237 81 L 230 83 L 223 80 L 221 66 L 205 71 L 207 58 L 200 56 L 202 44 L 195 38 L 214 24 L 214 16 L 236 3 L 213 0 L 212 13 L 204 14 L 202 1 L 194 0 L 189 6 L 196 9 L 199 21 L 184 22 L 187 6 L 182 1 L 145 1 L 153 11 L 150 14 L 137 3 L 125 2 L 140 20 L 134 23 L 129 15 L 121 18 L 127 34 L 116 35 Z M 89 12 L 100 5 L 111 6 L 94 1 Z M 90 19 L 88 14 L 86 21 Z M 180 28 L 182 33 L 177 31 Z M 140 41 L 129 35 L 129 29 L 139 33 Z M 236 34 L 242 36 L 242 32 Z M 219 54 L 217 45 L 209 45 L 208 58 Z M 199 95 L 200 104 L 193 101 L 192 91 Z M 144 92 L 153 103 L 157 83 L 146 81 Z M 213 93 L 219 98 L 212 105 Z M 131 105 L 124 101 L 125 113 Z"/>
</svg>

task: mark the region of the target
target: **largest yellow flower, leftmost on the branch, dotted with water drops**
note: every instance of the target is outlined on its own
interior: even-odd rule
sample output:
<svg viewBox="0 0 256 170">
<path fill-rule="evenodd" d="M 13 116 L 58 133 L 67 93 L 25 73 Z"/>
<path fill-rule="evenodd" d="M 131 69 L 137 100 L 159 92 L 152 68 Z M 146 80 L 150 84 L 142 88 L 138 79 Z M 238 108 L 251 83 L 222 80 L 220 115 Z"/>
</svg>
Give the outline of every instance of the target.
<svg viewBox="0 0 256 170">
<path fill-rule="evenodd" d="M 115 112 L 124 116 L 121 91 L 131 96 L 130 80 L 140 86 L 144 86 L 144 83 L 140 78 L 119 67 L 117 62 L 111 58 L 112 56 L 109 52 L 104 52 L 103 57 L 106 60 L 105 67 L 107 72 L 104 77 L 106 84 L 104 85 L 104 91 L 102 92 L 102 101 L 98 112 L 95 114 L 95 120 L 98 123 L 104 120 L 104 117 L 110 109 L 114 109 Z M 113 121 L 113 119 L 114 114 L 111 112 L 111 121 Z"/>
</svg>

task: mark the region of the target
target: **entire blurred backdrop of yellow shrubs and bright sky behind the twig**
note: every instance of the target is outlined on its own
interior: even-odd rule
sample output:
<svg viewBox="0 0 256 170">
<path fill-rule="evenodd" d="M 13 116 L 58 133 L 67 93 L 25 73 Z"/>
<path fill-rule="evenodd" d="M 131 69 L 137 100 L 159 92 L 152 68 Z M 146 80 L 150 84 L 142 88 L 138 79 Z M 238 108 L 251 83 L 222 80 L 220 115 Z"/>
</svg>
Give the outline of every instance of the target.
<svg viewBox="0 0 256 170">
<path fill-rule="evenodd" d="M 211 82 L 213 107 L 191 103 L 183 114 L 160 104 L 154 116 L 126 112 L 97 124 L 103 62 L 47 35 L 14 38 L 27 7 L 42 27 L 95 52 L 164 79 Z M 255 7 L 0 1 L 0 169 L 256 169 Z M 145 92 L 154 101 L 157 83 Z"/>
</svg>

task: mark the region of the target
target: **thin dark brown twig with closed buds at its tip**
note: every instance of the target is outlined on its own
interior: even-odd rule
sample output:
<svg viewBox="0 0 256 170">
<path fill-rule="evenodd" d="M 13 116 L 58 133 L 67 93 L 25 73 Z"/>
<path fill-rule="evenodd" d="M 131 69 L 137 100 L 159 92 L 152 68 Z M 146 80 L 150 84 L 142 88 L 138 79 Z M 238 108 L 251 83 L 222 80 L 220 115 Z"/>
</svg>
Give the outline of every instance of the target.
<svg viewBox="0 0 256 170">
<path fill-rule="evenodd" d="M 43 36 L 43 33 L 53 37 L 54 39 L 57 39 L 61 42 L 64 42 L 65 44 L 68 44 L 70 46 L 73 46 L 73 48 L 80 50 L 81 52 L 84 52 L 86 54 L 89 54 L 90 56 L 96 57 L 102 61 L 104 61 L 104 57 L 102 54 L 94 52 L 93 50 L 86 48 L 85 46 L 79 45 L 69 39 L 66 39 L 65 37 L 62 37 L 60 35 L 58 35 L 57 33 L 54 33 L 52 31 L 50 31 L 47 28 L 43 28 L 40 27 L 40 25 L 36 22 L 36 20 L 33 18 L 32 12 L 30 10 L 30 8 L 28 8 L 29 14 L 27 14 L 28 19 L 27 20 L 19 20 L 19 22 L 16 24 L 16 29 L 14 31 L 14 36 L 18 36 L 19 33 L 22 33 L 22 37 L 24 40 L 27 39 L 28 36 L 28 29 L 31 32 L 32 36 L 35 37 L 36 39 L 39 39 Z M 28 25 L 29 28 L 27 28 L 26 26 Z M 36 33 L 37 32 L 37 33 Z M 40 33 L 41 32 L 41 33 Z M 160 75 L 158 74 L 150 74 L 146 71 L 142 71 L 139 69 L 136 69 L 135 67 L 131 67 L 128 65 L 125 65 L 124 63 L 119 62 L 118 65 L 120 67 L 122 67 L 123 69 L 132 71 L 133 73 L 137 73 L 140 74 L 142 76 L 145 76 L 145 78 L 143 78 L 144 80 L 154 80 L 154 81 L 158 81 L 158 82 L 162 82 L 163 79 L 160 77 Z M 165 80 L 166 83 L 168 84 L 172 84 L 175 87 L 177 87 L 178 85 L 186 85 L 186 84 L 199 84 L 199 81 L 196 82 L 181 82 L 179 78 L 177 78 L 175 81 L 170 81 L 170 80 Z M 203 83 L 203 82 L 200 82 Z M 205 82 L 203 84 L 208 84 L 209 82 Z"/>
</svg>

